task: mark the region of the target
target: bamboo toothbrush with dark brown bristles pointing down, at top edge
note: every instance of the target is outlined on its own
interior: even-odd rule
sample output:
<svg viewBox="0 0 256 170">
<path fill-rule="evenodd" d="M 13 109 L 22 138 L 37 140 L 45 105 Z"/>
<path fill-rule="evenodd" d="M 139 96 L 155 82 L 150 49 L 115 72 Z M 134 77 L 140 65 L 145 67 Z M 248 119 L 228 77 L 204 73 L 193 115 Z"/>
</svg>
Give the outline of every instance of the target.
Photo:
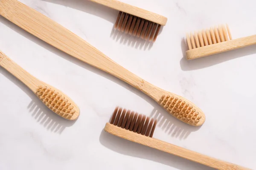
<svg viewBox="0 0 256 170">
<path fill-rule="evenodd" d="M 154 42 L 161 26 L 165 26 L 167 22 L 166 17 L 117 0 L 90 1 L 118 10 L 119 14 L 114 28 L 144 40 Z"/>
</svg>

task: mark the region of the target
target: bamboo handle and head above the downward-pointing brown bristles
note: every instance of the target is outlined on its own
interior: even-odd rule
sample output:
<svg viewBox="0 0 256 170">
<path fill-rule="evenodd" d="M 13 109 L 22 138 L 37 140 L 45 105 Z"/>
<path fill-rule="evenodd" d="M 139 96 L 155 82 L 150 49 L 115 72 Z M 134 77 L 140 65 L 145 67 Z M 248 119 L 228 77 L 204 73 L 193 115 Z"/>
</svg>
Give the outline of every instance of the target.
<svg viewBox="0 0 256 170">
<path fill-rule="evenodd" d="M 104 6 L 108 6 L 110 8 L 116 9 L 118 11 L 122 11 L 145 20 L 152 21 L 154 23 L 160 24 L 162 26 L 166 25 L 167 18 L 161 15 L 155 14 L 150 11 L 146 11 L 145 9 L 138 8 L 136 6 L 131 6 L 127 3 L 122 3 L 118 0 L 90 0 L 95 3 L 99 3 Z"/>
</svg>

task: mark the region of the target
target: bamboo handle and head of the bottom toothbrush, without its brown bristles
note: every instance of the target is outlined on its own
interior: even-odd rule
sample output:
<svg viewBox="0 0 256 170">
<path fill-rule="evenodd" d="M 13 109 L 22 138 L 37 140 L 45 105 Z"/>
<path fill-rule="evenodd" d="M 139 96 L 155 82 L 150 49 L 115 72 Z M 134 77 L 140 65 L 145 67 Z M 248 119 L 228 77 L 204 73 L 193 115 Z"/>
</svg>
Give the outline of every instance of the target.
<svg viewBox="0 0 256 170">
<path fill-rule="evenodd" d="M 188 150 L 183 147 L 176 146 L 174 144 L 170 144 L 158 139 L 154 139 L 148 136 L 134 133 L 133 131 L 123 129 L 121 127 L 117 127 L 110 123 L 106 123 L 104 130 L 108 133 L 111 133 L 112 135 L 118 136 L 123 139 L 127 139 L 131 142 L 143 144 L 145 146 L 152 147 L 154 149 L 161 150 L 163 152 L 167 152 L 172 155 L 197 162 L 199 164 L 204 164 L 208 167 L 213 167 L 218 170 L 250 170 L 248 168 L 241 167 L 239 165 L 232 164 L 226 161 L 221 161 L 219 159 L 215 159 L 215 158 L 203 155 L 201 153 L 197 153 L 192 150 Z"/>
</svg>

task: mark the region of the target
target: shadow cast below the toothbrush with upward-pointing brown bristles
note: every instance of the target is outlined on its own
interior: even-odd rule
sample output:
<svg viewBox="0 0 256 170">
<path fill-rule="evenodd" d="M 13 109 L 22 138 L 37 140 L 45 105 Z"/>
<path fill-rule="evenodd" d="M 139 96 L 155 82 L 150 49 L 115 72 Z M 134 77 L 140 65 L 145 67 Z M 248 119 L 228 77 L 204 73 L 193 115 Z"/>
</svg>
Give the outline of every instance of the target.
<svg viewBox="0 0 256 170">
<path fill-rule="evenodd" d="M 206 167 L 193 161 L 119 138 L 104 130 L 102 130 L 102 133 L 100 134 L 99 142 L 116 153 L 155 161 L 160 164 L 175 167 L 179 170 L 214 170 L 213 168 Z"/>
</svg>

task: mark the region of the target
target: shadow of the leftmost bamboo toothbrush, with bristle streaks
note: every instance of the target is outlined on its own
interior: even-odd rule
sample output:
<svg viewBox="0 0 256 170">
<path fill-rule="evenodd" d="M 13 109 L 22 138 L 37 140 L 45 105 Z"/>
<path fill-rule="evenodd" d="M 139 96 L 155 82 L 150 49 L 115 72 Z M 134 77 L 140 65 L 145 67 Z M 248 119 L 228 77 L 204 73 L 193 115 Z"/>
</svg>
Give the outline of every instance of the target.
<svg viewBox="0 0 256 170">
<path fill-rule="evenodd" d="M 3 74 L 3 76 L 12 81 L 32 99 L 27 106 L 28 112 L 36 122 L 44 126 L 50 132 L 61 134 L 66 127 L 72 126 L 75 123 L 75 121 L 66 120 L 52 112 L 28 87 L 26 87 L 26 85 L 1 67 L 0 74 Z"/>
</svg>

